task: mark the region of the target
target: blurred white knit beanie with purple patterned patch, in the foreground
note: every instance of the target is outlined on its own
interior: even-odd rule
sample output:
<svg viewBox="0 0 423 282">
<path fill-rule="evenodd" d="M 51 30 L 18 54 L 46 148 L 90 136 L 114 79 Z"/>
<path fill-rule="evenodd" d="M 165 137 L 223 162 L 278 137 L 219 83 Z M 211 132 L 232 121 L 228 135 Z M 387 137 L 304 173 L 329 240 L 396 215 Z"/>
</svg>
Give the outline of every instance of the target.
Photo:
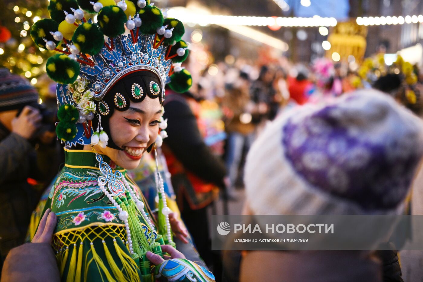
<svg viewBox="0 0 423 282">
<path fill-rule="evenodd" d="M 247 156 L 257 215 L 400 214 L 423 153 L 423 122 L 376 90 L 292 109 Z"/>
</svg>

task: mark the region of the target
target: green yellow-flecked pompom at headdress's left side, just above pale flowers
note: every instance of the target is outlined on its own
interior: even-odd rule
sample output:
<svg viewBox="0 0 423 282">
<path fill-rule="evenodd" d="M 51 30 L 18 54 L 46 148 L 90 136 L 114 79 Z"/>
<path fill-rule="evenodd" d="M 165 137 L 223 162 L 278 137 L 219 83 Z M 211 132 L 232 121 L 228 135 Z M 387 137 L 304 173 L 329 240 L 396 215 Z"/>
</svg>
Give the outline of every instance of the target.
<svg viewBox="0 0 423 282">
<path fill-rule="evenodd" d="M 80 73 L 80 64 L 67 55 L 56 54 L 47 60 L 47 75 L 62 84 L 74 83 Z"/>
</svg>

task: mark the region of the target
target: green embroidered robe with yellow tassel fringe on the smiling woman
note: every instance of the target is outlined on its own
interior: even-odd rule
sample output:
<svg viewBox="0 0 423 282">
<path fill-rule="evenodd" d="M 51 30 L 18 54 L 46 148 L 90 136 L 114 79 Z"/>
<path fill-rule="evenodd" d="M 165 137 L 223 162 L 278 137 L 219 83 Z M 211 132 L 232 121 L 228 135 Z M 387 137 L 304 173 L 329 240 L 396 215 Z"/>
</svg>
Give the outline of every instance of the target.
<svg viewBox="0 0 423 282">
<path fill-rule="evenodd" d="M 143 275 L 151 272 L 149 263 L 141 262 L 145 268 L 140 270 L 138 260 L 133 260 L 129 253 L 124 222 L 119 219 L 117 208 L 99 188 L 97 180 L 101 173 L 95 154 L 65 149 L 65 159 L 48 197 L 41 199 L 33 213 L 30 238 L 35 234 L 44 211 L 51 208 L 58 218 L 52 246 L 57 253 L 62 281 L 142 280 Z M 140 189 L 126 175 L 126 170 L 110 163 L 107 156 L 103 155 L 103 161 L 122 172 L 138 199 L 145 203 L 144 210 L 150 214 Z M 150 234 L 143 216 L 138 214 L 138 220 L 143 230 Z"/>
</svg>

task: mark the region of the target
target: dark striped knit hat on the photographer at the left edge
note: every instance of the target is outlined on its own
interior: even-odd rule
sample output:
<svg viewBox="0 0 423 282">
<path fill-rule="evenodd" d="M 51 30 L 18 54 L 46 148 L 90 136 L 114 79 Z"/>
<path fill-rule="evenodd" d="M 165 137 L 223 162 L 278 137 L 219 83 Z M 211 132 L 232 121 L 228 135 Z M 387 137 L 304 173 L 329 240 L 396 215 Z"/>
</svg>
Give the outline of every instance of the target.
<svg viewBox="0 0 423 282">
<path fill-rule="evenodd" d="M 21 109 L 37 101 L 38 92 L 27 79 L 0 69 L 0 112 Z"/>
</svg>

